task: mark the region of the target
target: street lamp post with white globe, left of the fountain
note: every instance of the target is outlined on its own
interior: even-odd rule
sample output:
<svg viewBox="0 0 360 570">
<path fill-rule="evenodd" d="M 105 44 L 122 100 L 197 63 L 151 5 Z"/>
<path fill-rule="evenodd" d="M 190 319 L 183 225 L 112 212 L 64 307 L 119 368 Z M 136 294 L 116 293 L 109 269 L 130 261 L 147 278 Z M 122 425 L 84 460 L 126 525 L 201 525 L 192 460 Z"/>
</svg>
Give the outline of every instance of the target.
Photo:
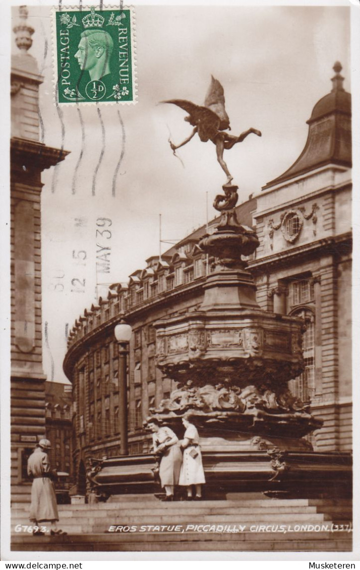
<svg viewBox="0 0 360 570">
<path fill-rule="evenodd" d="M 120 321 L 114 329 L 115 339 L 119 343 L 119 420 L 120 420 L 120 455 L 128 455 L 127 442 L 127 355 L 131 339 L 131 327 Z"/>
</svg>

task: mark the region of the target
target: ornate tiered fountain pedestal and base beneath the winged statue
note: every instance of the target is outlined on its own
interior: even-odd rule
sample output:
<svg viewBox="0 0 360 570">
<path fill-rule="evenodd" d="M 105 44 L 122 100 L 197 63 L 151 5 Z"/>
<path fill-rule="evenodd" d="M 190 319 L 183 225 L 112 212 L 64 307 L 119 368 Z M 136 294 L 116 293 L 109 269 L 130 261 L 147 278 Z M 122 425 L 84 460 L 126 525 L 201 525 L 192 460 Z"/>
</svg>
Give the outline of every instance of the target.
<svg viewBox="0 0 360 570">
<path fill-rule="evenodd" d="M 232 187 L 236 193 L 236 186 Z M 227 189 L 229 193 L 229 189 Z M 226 192 L 225 192 L 226 194 Z M 223 210 L 215 233 L 199 246 L 217 258 L 199 310 L 161 319 L 156 364 L 178 382 L 152 416 L 183 438 L 186 413 L 200 434 L 205 496 L 229 492 L 285 492 L 295 496 L 346 495 L 351 488 L 346 454 L 314 453 L 304 439 L 322 425 L 288 389 L 304 369 L 298 317 L 262 311 L 242 255 L 258 239 Z M 150 420 L 150 418 L 149 418 Z M 346 457 L 345 457 L 346 455 Z M 104 492 L 149 491 L 150 456 L 108 459 L 96 475 Z M 333 486 L 333 487 L 331 487 Z"/>
</svg>

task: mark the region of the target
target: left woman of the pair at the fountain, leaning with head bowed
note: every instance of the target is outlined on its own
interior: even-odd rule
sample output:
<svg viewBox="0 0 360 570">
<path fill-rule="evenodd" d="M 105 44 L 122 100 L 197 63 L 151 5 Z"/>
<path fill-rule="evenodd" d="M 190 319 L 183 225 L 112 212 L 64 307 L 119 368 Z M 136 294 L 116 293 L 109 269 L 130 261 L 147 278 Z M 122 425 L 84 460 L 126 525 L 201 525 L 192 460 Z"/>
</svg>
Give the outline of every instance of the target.
<svg viewBox="0 0 360 570">
<path fill-rule="evenodd" d="M 174 486 L 179 483 L 180 468 L 183 462 L 179 439 L 169 427 L 160 426 L 156 420 L 151 420 L 148 428 L 153 432 L 154 453 L 161 458 L 159 477 L 161 487 L 165 488 L 166 493 L 165 498 L 161 500 L 173 500 Z"/>
</svg>

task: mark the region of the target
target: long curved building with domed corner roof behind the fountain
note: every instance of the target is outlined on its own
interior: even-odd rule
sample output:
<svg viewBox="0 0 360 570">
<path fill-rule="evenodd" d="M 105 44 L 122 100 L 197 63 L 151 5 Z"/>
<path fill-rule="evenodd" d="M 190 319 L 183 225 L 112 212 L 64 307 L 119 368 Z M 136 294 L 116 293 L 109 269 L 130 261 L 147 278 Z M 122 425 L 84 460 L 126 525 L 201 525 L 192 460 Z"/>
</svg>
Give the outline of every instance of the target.
<svg viewBox="0 0 360 570">
<path fill-rule="evenodd" d="M 318 451 L 351 449 L 351 100 L 341 66 L 335 64 L 334 71 L 333 90 L 315 105 L 298 160 L 237 207 L 238 220 L 253 227 L 260 241 L 248 258 L 258 305 L 279 319 L 300 316 L 306 323 L 305 370 L 289 387 L 303 401 L 311 400 L 312 413 L 324 421 L 309 436 Z M 64 370 L 73 384 L 74 471 L 80 478 L 90 458 L 119 455 L 120 360 L 114 328 L 122 319 L 132 328 L 129 451 L 149 451 L 143 421 L 176 387 L 156 367 L 154 324 L 196 311 L 203 302 L 205 279 L 215 264 L 198 243 L 211 226 L 161 258 L 149 258 L 128 283 L 112 285 L 107 298 L 75 321 Z M 285 349 L 281 342 L 279 337 L 278 351 Z"/>
</svg>

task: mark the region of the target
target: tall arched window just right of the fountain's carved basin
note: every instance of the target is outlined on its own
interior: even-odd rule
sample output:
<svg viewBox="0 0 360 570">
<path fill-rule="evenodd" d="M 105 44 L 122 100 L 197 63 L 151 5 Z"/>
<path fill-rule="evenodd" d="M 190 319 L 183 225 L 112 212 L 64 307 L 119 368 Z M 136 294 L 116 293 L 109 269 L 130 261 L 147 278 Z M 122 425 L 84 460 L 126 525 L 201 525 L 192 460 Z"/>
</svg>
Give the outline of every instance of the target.
<svg viewBox="0 0 360 570">
<path fill-rule="evenodd" d="M 306 402 L 315 395 L 314 314 L 308 309 L 302 309 L 294 311 L 292 315 L 302 317 L 306 324 L 306 331 L 302 335 L 305 369 L 300 376 L 289 382 L 289 388 L 294 396 Z"/>
</svg>

